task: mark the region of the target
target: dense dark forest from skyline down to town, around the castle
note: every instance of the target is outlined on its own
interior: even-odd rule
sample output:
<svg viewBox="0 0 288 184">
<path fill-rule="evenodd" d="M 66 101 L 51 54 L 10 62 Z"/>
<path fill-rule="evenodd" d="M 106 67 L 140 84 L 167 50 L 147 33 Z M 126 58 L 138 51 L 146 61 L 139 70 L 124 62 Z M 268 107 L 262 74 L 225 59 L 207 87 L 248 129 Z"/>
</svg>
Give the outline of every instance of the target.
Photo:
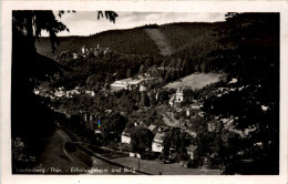
<svg viewBox="0 0 288 184">
<path fill-rule="evenodd" d="M 64 76 L 53 81 L 53 86 L 68 89 L 76 85 L 104 86 L 117 79 L 148 73 L 162 76 L 164 82 L 183 78 L 194 72 L 220 72 L 212 64 L 208 54 L 218 50 L 217 23 L 172 23 L 151 28 L 147 25 L 130 30 L 113 30 L 90 37 L 63 37 L 54 53 L 51 52 L 48 38 L 35 41 L 39 53 L 54 59 L 65 67 Z M 171 57 L 160 54 L 160 49 L 145 32 L 145 29 L 158 29 L 173 48 Z M 72 53 L 81 53 L 81 48 L 110 48 L 105 55 L 72 59 Z M 62 52 L 69 52 L 62 57 Z M 61 57 L 60 57 L 61 55 Z M 160 70 L 160 68 L 162 68 Z M 114 74 L 114 75 L 112 75 Z M 97 82 L 95 82 L 97 81 Z M 99 81 L 102 81 L 99 83 Z"/>
</svg>

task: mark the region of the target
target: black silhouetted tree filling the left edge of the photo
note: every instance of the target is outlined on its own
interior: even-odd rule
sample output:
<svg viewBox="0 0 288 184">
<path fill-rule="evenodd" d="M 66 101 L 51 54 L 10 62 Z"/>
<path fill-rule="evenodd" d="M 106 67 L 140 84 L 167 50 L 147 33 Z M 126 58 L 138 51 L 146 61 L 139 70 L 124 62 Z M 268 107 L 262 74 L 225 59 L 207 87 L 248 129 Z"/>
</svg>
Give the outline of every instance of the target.
<svg viewBox="0 0 288 184">
<path fill-rule="evenodd" d="M 59 16 L 63 13 L 60 11 Z M 53 60 L 38 54 L 34 42 L 41 31 L 48 31 L 54 51 L 59 44 L 56 33 L 64 30 L 69 31 L 52 11 L 12 11 L 11 136 L 20 137 L 27 154 L 31 156 L 41 153 L 44 145 L 41 141 L 53 133 L 54 121 L 58 119 L 49 108 L 50 101 L 37 96 L 33 90 L 43 81 L 61 75 L 64 70 Z M 13 163 L 14 159 L 12 157 Z M 20 165 L 13 165 L 13 173 L 17 166 Z"/>
</svg>

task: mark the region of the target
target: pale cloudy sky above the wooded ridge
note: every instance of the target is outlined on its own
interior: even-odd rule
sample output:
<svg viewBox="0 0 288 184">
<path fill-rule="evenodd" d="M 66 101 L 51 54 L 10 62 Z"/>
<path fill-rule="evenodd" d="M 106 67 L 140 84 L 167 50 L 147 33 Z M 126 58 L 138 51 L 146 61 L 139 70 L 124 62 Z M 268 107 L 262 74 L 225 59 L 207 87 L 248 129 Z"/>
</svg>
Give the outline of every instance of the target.
<svg viewBox="0 0 288 184">
<path fill-rule="evenodd" d="M 196 12 L 127 12 L 117 11 L 116 22 L 110 22 L 105 17 L 97 19 L 96 11 L 76 11 L 65 13 L 61 18 L 54 12 L 58 20 L 63 22 L 70 30 L 58 35 L 90 35 L 106 30 L 131 29 L 150 23 L 165 24 L 172 22 L 216 22 L 225 20 L 223 13 L 196 13 Z M 42 32 L 42 35 L 48 35 Z"/>
</svg>

